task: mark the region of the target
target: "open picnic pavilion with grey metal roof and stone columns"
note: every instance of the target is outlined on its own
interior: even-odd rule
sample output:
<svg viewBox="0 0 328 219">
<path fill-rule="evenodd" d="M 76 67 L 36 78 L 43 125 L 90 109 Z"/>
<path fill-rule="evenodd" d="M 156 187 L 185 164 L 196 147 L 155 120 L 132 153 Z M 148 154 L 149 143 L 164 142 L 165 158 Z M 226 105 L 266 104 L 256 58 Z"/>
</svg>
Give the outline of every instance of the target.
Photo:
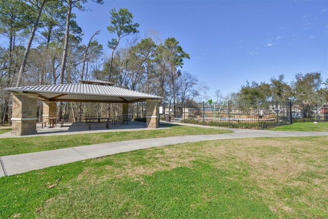
<svg viewBox="0 0 328 219">
<path fill-rule="evenodd" d="M 43 117 L 57 113 L 56 102 L 121 103 L 122 116 L 131 120 L 131 103 L 147 102 L 147 128 L 158 128 L 159 102 L 162 97 L 113 86 L 99 80 L 76 84 L 12 87 L 12 135 L 36 134 L 37 99 L 44 101 Z"/>
</svg>

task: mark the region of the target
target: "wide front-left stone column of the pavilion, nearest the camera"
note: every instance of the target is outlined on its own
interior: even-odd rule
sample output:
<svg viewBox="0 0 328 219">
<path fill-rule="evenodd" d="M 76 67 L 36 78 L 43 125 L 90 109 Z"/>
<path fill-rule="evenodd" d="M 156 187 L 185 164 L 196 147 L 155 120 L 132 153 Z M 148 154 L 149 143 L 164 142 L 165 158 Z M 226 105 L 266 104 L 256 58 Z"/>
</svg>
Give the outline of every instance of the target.
<svg viewBox="0 0 328 219">
<path fill-rule="evenodd" d="M 12 94 L 12 135 L 36 134 L 37 94 Z"/>
</svg>

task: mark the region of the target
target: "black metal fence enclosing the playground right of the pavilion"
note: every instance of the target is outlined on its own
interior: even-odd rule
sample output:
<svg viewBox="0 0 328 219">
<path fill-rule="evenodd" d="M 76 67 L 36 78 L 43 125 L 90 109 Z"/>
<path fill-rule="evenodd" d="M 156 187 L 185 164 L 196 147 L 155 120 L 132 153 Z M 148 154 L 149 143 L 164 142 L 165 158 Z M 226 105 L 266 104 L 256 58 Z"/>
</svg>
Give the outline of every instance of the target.
<svg viewBox="0 0 328 219">
<path fill-rule="evenodd" d="M 163 104 L 162 119 L 172 122 L 230 128 L 267 129 L 293 122 L 328 121 L 328 105 L 296 105 L 291 102 L 231 102 Z"/>
</svg>

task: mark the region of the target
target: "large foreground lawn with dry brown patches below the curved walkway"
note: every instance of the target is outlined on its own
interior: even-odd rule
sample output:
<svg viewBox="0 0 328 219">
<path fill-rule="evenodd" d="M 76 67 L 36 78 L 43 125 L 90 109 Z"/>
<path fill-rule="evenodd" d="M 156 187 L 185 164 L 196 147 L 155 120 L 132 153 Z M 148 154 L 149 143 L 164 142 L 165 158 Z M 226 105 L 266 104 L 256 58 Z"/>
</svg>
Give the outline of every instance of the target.
<svg viewBox="0 0 328 219">
<path fill-rule="evenodd" d="M 327 218 L 327 182 L 326 136 L 188 143 L 1 177 L 0 215 Z"/>
</svg>

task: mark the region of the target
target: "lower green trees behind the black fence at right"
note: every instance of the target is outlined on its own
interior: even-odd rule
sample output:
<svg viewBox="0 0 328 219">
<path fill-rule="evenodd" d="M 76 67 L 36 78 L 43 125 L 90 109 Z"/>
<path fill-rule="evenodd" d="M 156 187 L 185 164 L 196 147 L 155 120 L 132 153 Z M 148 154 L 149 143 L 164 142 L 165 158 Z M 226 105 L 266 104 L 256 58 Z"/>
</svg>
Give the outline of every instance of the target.
<svg viewBox="0 0 328 219">
<path fill-rule="evenodd" d="M 292 82 L 285 82 L 281 74 L 270 83 L 247 82 L 236 93 L 223 97 L 216 91 L 217 101 L 231 99 L 235 102 L 292 102 L 299 105 L 322 106 L 328 104 L 328 79 L 323 81 L 320 72 L 298 73 Z"/>
</svg>

